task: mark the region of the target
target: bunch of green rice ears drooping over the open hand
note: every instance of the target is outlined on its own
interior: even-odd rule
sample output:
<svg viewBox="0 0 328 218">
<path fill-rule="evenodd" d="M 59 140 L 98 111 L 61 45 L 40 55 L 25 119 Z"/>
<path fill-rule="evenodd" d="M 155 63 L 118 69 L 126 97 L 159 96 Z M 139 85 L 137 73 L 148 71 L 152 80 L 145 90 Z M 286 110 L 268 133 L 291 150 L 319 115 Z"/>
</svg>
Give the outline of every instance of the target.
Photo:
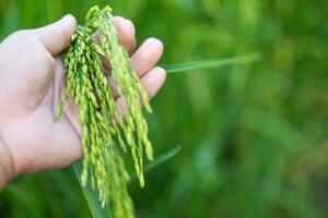
<svg viewBox="0 0 328 218">
<path fill-rule="evenodd" d="M 134 217 L 134 213 L 127 190 L 129 175 L 118 146 L 125 153 L 129 147 L 143 187 L 143 152 L 152 160 L 153 150 L 142 107 L 148 112 L 151 107 L 129 56 L 119 44 L 112 19 L 109 7 L 103 10 L 94 7 L 87 13 L 85 26 L 78 26 L 63 60 L 66 90 L 56 118 L 62 113 L 69 97 L 79 106 L 84 155 L 82 181 L 98 190 L 103 205 L 112 204 L 114 217 L 128 218 Z M 92 38 L 96 31 L 99 45 Z M 102 58 L 110 62 L 118 94 L 125 96 L 125 119 L 104 75 Z"/>
</svg>

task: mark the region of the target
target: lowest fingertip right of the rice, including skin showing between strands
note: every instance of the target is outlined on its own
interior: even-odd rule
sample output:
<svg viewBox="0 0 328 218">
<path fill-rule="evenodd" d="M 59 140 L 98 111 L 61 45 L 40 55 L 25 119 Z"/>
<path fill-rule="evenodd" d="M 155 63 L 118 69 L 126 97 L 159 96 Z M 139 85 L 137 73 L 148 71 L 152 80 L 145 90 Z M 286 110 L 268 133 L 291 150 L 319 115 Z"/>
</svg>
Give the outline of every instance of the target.
<svg viewBox="0 0 328 218">
<path fill-rule="evenodd" d="M 142 87 L 148 93 L 149 99 L 152 99 L 156 93 L 160 90 L 160 88 L 163 86 L 166 78 L 166 72 L 162 68 L 154 68 L 151 71 L 149 71 L 140 81 Z M 127 110 L 127 104 L 125 96 L 120 96 L 116 100 L 117 107 L 120 110 L 120 114 L 122 117 L 126 116 Z"/>
</svg>

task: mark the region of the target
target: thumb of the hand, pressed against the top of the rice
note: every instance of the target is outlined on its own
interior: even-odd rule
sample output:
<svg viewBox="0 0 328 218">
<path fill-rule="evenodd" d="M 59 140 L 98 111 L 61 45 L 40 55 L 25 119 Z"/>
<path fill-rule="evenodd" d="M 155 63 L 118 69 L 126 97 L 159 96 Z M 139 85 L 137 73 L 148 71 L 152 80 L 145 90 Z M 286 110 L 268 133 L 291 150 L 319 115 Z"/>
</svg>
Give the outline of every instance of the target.
<svg viewBox="0 0 328 218">
<path fill-rule="evenodd" d="M 36 28 L 33 32 L 44 44 L 47 50 L 55 57 L 62 52 L 71 43 L 71 36 L 77 29 L 77 20 L 74 16 L 68 14 L 61 20 Z"/>
</svg>

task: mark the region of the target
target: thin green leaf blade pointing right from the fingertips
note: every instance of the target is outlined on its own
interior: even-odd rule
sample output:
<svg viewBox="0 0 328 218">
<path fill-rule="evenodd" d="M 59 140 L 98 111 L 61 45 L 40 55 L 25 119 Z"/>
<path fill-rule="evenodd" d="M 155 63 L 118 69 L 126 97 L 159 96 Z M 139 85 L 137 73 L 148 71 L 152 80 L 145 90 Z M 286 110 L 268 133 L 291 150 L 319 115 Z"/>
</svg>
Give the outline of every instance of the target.
<svg viewBox="0 0 328 218">
<path fill-rule="evenodd" d="M 247 53 L 244 56 L 236 56 L 232 58 L 216 59 L 216 60 L 204 60 L 188 63 L 176 63 L 176 64 L 163 64 L 162 68 L 166 70 L 167 73 L 176 73 L 181 71 L 191 71 L 199 69 L 210 69 L 220 68 L 225 65 L 250 63 L 259 61 L 261 59 L 260 53 Z"/>
</svg>

